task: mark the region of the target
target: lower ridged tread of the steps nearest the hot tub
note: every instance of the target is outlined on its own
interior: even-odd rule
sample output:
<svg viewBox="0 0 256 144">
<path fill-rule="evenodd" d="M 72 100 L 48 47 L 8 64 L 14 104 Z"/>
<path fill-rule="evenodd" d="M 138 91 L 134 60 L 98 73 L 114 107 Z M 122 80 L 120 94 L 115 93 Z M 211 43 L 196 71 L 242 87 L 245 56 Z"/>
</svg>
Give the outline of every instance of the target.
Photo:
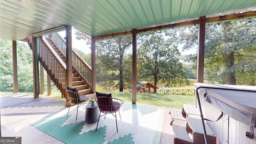
<svg viewBox="0 0 256 144">
<path fill-rule="evenodd" d="M 201 117 L 195 114 L 188 114 L 187 122 L 189 127 L 193 130 L 193 132 L 204 134 L 203 124 Z M 206 134 L 209 136 L 215 136 L 210 127 L 204 122 Z"/>
</svg>

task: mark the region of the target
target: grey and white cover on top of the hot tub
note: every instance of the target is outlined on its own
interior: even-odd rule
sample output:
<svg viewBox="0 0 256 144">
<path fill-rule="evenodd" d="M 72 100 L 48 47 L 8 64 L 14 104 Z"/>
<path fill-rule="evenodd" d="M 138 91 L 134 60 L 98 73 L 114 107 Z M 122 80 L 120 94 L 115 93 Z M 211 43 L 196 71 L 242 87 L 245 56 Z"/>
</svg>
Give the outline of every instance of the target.
<svg viewBox="0 0 256 144">
<path fill-rule="evenodd" d="M 198 90 L 200 101 L 205 100 L 234 120 L 249 125 L 248 134 L 254 135 L 256 86 L 194 83 L 194 88 Z"/>
</svg>

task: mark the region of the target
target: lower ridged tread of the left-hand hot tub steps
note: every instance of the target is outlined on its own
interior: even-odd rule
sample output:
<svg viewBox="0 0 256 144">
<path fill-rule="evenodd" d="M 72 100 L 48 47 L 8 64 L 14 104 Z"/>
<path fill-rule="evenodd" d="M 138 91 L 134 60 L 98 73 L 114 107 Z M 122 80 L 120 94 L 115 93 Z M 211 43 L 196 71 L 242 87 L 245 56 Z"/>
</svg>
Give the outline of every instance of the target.
<svg viewBox="0 0 256 144">
<path fill-rule="evenodd" d="M 192 139 L 188 135 L 186 129 L 187 122 L 184 120 L 175 119 L 172 123 L 172 129 L 174 132 L 174 138 L 178 138 L 180 140 L 185 140 L 192 143 Z"/>
</svg>

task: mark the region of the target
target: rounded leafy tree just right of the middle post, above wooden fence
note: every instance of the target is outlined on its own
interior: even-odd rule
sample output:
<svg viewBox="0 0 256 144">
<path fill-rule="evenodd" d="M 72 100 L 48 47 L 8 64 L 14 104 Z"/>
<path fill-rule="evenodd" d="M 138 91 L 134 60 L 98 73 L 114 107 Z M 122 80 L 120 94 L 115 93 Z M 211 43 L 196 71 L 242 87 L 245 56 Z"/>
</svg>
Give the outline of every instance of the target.
<svg viewBox="0 0 256 144">
<path fill-rule="evenodd" d="M 138 61 L 141 64 L 138 69 L 141 78 L 149 82 L 153 80 L 154 86 L 159 80 L 166 83 L 166 87 L 189 83 L 179 60 L 180 52 L 175 39 L 164 40 L 160 33 L 151 33 L 150 38 L 138 48 Z"/>
</svg>

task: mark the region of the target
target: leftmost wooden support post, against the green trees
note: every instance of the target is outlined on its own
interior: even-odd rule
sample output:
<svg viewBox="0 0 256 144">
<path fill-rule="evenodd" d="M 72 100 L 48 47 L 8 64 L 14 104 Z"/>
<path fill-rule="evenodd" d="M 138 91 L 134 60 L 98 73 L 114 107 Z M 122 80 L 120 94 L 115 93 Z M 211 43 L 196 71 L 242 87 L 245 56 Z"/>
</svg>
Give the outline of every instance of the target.
<svg viewBox="0 0 256 144">
<path fill-rule="evenodd" d="M 12 41 L 12 74 L 13 74 L 13 92 L 18 91 L 18 66 L 17 66 L 17 42 Z"/>
</svg>

